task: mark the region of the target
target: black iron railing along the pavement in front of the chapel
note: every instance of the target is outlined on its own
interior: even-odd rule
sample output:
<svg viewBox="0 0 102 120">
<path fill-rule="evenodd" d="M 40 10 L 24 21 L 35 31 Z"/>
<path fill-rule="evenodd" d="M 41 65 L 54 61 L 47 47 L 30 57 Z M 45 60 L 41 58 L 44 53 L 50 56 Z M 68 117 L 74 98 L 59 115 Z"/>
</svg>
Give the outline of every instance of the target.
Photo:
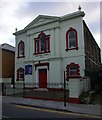
<svg viewBox="0 0 102 120">
<path fill-rule="evenodd" d="M 64 83 L 47 83 L 46 88 L 42 89 L 55 89 L 55 90 L 64 90 Z M 22 95 L 25 96 L 27 91 L 36 91 L 39 89 L 39 83 L 4 83 L 2 87 L 3 95 Z M 41 88 L 40 88 L 41 89 Z M 66 90 L 68 90 L 68 83 L 66 83 Z"/>
</svg>

